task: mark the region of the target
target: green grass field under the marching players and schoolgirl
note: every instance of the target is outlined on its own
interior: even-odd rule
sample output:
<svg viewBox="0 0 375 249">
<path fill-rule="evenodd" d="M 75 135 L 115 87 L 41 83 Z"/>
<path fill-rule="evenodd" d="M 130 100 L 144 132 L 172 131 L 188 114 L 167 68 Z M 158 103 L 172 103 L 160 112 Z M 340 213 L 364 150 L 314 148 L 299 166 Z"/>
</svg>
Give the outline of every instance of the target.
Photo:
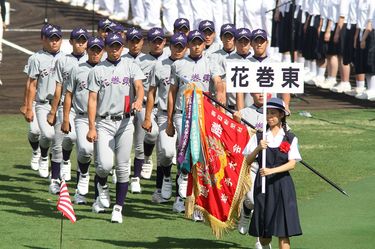
<svg viewBox="0 0 375 249">
<path fill-rule="evenodd" d="M 303 159 L 343 187 L 350 197 L 298 164 L 293 178 L 304 235 L 292 238 L 292 248 L 372 248 L 375 121 L 370 120 L 375 111 L 312 114 L 314 118 L 293 115 L 289 120 L 299 138 Z M 28 165 L 28 126 L 20 116 L 2 115 L 0 128 L 0 248 L 58 248 L 61 215 L 56 211 L 57 196 L 48 194 L 48 180 L 39 178 Z M 111 224 L 110 213 L 93 214 L 92 195 L 90 205 L 74 206 L 78 221 L 71 224 L 64 220 L 63 247 L 254 247 L 255 238 L 237 231 L 216 240 L 208 226 L 173 213 L 172 202 L 153 205 L 153 179 L 142 181 L 142 194 L 128 194 L 123 224 Z M 68 187 L 72 195 L 73 182 Z M 276 239 L 273 247 L 277 248 Z"/>
</svg>

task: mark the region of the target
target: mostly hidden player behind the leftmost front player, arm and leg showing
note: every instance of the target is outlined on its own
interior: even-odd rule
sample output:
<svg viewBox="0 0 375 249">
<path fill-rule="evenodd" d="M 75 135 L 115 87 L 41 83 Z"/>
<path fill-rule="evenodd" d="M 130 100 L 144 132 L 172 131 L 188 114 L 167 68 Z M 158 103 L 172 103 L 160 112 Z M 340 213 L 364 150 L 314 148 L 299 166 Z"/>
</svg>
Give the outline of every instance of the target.
<svg viewBox="0 0 375 249">
<path fill-rule="evenodd" d="M 42 43 L 42 50 L 38 51 L 41 52 L 45 49 L 47 49 L 47 42 L 48 39 L 46 38 L 46 30 L 52 28 L 51 24 L 45 24 L 43 25 L 41 29 L 41 34 L 40 34 L 40 40 Z M 27 60 L 27 64 L 24 67 L 23 72 L 28 76 L 29 73 L 29 68 L 34 60 L 35 54 L 31 55 L 29 59 Z M 26 106 L 27 106 L 27 95 L 28 95 L 28 89 L 30 86 L 30 78 L 27 77 L 26 80 L 26 85 L 25 85 L 25 91 L 24 91 L 24 96 L 23 96 L 23 104 L 20 107 L 20 112 L 25 115 L 26 114 Z M 30 165 L 31 169 L 33 170 L 38 170 L 39 169 L 39 161 L 40 161 L 40 148 L 39 148 L 39 138 L 40 138 L 40 129 L 38 125 L 38 120 L 35 116 L 35 100 L 33 101 L 33 113 L 34 113 L 34 118 L 33 120 L 29 123 L 29 132 L 28 132 L 28 140 L 30 143 L 30 146 L 32 148 L 32 154 L 31 154 L 31 160 L 30 160 Z"/>
</svg>

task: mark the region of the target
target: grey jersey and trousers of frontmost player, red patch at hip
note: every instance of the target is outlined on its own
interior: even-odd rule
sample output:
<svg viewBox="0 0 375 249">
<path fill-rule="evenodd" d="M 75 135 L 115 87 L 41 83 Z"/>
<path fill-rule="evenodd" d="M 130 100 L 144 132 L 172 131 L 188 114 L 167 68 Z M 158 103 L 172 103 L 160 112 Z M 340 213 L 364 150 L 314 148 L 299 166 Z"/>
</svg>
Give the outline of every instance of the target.
<svg viewBox="0 0 375 249">
<path fill-rule="evenodd" d="M 88 76 L 88 89 L 97 92 L 97 169 L 99 177 L 107 177 L 116 158 L 119 183 L 129 181 L 130 154 L 134 132 L 130 106 L 134 80 L 144 80 L 142 70 L 135 63 L 121 59 L 116 63 L 103 61 Z"/>
</svg>

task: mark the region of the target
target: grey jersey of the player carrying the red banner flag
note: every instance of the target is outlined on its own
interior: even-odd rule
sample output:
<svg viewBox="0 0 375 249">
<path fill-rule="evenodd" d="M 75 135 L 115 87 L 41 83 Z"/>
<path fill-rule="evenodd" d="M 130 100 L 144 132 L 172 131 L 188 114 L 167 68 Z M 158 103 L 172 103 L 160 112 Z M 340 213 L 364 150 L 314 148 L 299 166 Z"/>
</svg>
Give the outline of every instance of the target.
<svg viewBox="0 0 375 249">
<path fill-rule="evenodd" d="M 183 94 L 187 83 L 194 82 L 204 92 L 214 93 L 213 77 L 223 76 L 224 72 L 217 63 L 211 63 L 207 56 L 192 59 L 190 56 L 172 64 L 171 84 L 178 87 L 175 108 L 182 110 Z"/>
</svg>

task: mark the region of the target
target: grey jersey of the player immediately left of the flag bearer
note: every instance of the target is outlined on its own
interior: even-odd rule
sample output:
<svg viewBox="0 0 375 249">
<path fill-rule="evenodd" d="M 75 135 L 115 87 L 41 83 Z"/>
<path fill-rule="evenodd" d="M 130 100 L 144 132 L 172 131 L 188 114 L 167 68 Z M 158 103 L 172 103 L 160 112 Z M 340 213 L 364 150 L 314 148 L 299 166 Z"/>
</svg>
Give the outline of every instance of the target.
<svg viewBox="0 0 375 249">
<path fill-rule="evenodd" d="M 171 84 L 171 67 L 174 62 L 170 58 L 158 61 L 151 71 L 150 86 L 157 88 L 158 108 L 164 111 L 167 110 L 168 92 Z"/>
</svg>

